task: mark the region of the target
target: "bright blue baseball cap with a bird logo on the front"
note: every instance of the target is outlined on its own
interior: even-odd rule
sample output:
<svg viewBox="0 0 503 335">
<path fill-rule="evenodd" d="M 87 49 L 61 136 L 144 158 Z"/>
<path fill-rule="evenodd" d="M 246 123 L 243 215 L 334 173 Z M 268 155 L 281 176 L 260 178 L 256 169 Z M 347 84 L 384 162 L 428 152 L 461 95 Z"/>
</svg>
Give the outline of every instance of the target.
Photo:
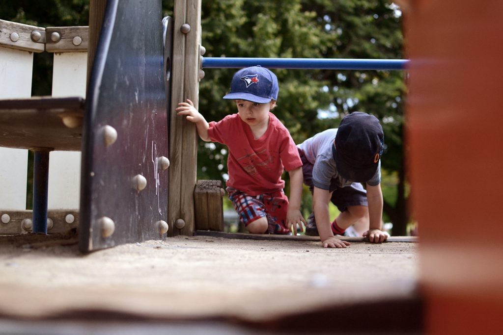
<svg viewBox="0 0 503 335">
<path fill-rule="evenodd" d="M 278 100 L 278 91 L 278 78 L 271 70 L 259 65 L 250 66 L 234 73 L 230 92 L 223 98 L 267 103 Z"/>
</svg>

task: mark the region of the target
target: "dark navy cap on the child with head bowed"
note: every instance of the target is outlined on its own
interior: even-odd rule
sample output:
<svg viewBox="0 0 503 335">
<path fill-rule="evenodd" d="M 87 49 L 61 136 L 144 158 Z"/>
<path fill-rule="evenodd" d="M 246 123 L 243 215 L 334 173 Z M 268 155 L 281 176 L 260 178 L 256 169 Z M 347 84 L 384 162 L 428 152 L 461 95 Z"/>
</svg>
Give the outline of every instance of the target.
<svg viewBox="0 0 503 335">
<path fill-rule="evenodd" d="M 360 183 L 372 179 L 384 150 L 384 133 L 375 116 L 361 111 L 345 116 L 334 144 L 333 159 L 343 178 Z"/>
</svg>

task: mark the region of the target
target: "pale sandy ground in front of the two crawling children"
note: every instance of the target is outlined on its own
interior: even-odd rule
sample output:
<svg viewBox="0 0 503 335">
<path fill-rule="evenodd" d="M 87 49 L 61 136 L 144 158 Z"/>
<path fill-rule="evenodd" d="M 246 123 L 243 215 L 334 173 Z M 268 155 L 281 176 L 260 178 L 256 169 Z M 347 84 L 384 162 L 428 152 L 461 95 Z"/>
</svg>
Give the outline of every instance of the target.
<svg viewBox="0 0 503 335">
<path fill-rule="evenodd" d="M 87 310 L 253 321 L 416 294 L 417 243 L 324 249 L 314 241 L 179 236 L 83 255 L 75 242 L 0 237 L 0 317 Z"/>
</svg>

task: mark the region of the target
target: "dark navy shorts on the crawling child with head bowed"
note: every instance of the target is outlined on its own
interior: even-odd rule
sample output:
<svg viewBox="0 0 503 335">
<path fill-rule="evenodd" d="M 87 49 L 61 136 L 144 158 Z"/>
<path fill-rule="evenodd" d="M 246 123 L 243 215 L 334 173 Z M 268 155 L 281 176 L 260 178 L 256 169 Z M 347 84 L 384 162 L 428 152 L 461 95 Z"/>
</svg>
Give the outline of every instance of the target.
<svg viewBox="0 0 503 335">
<path fill-rule="evenodd" d="M 300 159 L 302 161 L 302 174 L 304 175 L 304 184 L 309 186 L 311 194 L 314 191 L 312 182 L 313 165 L 309 163 L 304 156 L 304 153 L 299 149 Z M 346 187 L 338 187 L 337 180 L 332 179 L 330 182 L 330 192 L 332 197 L 330 201 L 337 206 L 340 211 L 345 211 L 349 206 L 368 206 L 367 191 L 361 183 L 352 183 Z"/>
</svg>

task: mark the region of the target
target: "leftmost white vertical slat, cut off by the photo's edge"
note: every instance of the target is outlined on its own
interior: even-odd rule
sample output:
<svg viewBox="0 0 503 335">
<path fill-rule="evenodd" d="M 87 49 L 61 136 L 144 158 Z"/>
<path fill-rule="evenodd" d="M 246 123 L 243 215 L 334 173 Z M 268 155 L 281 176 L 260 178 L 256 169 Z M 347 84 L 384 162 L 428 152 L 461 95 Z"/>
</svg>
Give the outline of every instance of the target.
<svg viewBox="0 0 503 335">
<path fill-rule="evenodd" d="M 31 96 L 33 53 L 0 47 L 0 98 Z M 28 150 L 0 147 L 0 209 L 26 209 Z"/>
</svg>

